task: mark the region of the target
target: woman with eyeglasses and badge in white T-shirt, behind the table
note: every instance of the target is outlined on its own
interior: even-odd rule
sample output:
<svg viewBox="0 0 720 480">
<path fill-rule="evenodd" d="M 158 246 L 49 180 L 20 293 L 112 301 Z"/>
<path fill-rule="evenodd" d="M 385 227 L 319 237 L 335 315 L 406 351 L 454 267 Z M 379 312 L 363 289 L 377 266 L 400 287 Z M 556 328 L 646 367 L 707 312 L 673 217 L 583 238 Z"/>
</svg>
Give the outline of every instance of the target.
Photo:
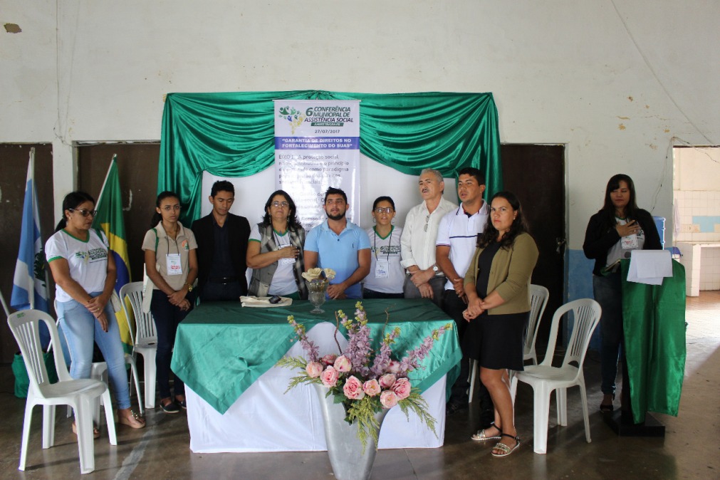
<svg viewBox="0 0 720 480">
<path fill-rule="evenodd" d="M 366 230 L 370 239 L 370 273 L 363 283 L 364 299 L 402 299 L 405 272 L 400 265 L 402 228 L 392 225 L 395 202 L 379 196 L 372 203 L 375 226 Z"/>
</svg>

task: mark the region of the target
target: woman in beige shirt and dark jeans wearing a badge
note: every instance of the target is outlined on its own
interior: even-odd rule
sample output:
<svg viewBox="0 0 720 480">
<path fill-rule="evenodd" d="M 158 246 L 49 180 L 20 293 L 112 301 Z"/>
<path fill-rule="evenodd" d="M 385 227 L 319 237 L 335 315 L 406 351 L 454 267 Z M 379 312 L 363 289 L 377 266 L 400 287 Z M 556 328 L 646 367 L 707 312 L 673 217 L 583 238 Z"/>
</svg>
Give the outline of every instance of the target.
<svg viewBox="0 0 720 480">
<path fill-rule="evenodd" d="M 173 373 L 174 393 L 170 395 L 170 363 L 178 324 L 192 305 L 197 279 L 197 242 L 192 230 L 178 222 L 180 199 L 171 191 L 163 191 L 156 201 L 156 214 L 145 233 L 145 272 L 150 279 L 145 287 L 143 309 L 153 314 L 158 334 L 155 366 L 160 389 L 160 408 L 168 414 L 186 409 L 185 384 Z M 151 287 L 151 288 L 150 288 Z"/>
</svg>

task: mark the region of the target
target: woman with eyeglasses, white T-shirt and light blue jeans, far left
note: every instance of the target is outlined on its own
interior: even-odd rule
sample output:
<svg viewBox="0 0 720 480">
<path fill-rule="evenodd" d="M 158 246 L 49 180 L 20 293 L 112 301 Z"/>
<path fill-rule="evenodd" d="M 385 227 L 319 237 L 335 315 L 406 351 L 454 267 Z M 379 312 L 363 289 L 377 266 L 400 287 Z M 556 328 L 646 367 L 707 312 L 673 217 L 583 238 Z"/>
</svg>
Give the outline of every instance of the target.
<svg viewBox="0 0 720 480">
<path fill-rule="evenodd" d="M 115 286 L 115 262 L 104 232 L 92 228 L 94 208 L 95 200 L 84 191 L 67 194 L 63 200 L 63 219 L 45 243 L 45 255 L 55 280 L 58 318 L 70 350 L 70 376 L 90 378 L 97 343 L 117 400 L 118 422 L 142 428 L 145 419 L 130 409 L 125 353 L 109 302 Z M 95 438 L 100 435 L 98 430 L 93 434 Z"/>
</svg>

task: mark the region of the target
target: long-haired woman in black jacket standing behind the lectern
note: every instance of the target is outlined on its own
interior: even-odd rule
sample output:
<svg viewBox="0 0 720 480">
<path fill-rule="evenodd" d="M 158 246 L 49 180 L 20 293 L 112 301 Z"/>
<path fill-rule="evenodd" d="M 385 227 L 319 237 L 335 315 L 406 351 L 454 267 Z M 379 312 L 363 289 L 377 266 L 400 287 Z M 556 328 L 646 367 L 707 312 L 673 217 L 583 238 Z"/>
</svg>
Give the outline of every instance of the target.
<svg viewBox="0 0 720 480">
<path fill-rule="evenodd" d="M 613 411 L 615 377 L 623 337 L 623 304 L 620 260 L 630 258 L 631 250 L 660 250 L 660 235 L 652 216 L 635 202 L 632 178 L 622 173 L 608 181 L 605 204 L 590 217 L 585 256 L 595 260 L 593 293 L 603 308 L 600 318 L 600 372 L 603 377 L 601 412 Z"/>
</svg>

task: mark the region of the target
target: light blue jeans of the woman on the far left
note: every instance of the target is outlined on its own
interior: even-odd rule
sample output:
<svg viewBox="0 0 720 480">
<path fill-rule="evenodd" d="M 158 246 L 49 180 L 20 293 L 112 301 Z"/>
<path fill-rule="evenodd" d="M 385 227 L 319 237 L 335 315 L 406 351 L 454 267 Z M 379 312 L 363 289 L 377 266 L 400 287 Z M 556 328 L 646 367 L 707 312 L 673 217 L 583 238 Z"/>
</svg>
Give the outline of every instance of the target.
<svg viewBox="0 0 720 480">
<path fill-rule="evenodd" d="M 102 292 L 94 291 L 90 296 L 98 296 Z M 73 379 L 89 379 L 92 368 L 94 344 L 102 352 L 107 363 L 107 375 L 112 384 L 117 408 L 130 408 L 130 394 L 127 390 L 127 370 L 125 369 L 125 352 L 122 350 L 120 330 L 117 319 L 112 311 L 112 303 L 105 305 L 107 332 L 102 331 L 100 322 L 85 308 L 83 304 L 71 300 L 58 302 L 58 317 L 70 351 L 70 376 Z"/>
</svg>

